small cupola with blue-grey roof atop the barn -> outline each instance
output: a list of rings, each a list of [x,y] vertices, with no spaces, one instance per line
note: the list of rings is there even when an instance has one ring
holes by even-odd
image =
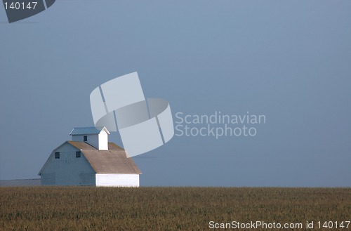
[[[109,150],[108,135],[110,131],[104,127],[73,128],[71,133],[72,141],[86,142],[98,150]]]

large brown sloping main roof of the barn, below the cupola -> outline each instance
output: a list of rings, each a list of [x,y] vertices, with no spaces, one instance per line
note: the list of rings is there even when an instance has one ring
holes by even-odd
[[[109,142],[109,150],[97,150],[85,142],[67,141],[84,154],[96,173],[141,174],[133,159],[126,157],[126,151]]]

